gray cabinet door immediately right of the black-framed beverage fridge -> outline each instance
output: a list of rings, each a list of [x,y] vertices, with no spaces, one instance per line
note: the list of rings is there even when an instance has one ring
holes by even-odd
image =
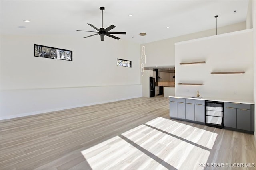
[[[236,128],[236,109],[224,107],[224,126]]]

